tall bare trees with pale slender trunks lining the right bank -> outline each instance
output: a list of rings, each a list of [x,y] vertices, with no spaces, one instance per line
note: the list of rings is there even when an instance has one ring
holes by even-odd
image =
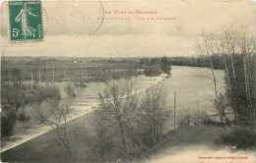
[[[255,35],[245,28],[232,27],[224,28],[219,32],[202,32],[198,49],[202,56],[214,55],[222,58],[220,63],[225,72],[225,93],[217,90],[213,60],[211,57],[208,60],[221,120],[226,120],[224,113],[227,108],[232,109],[236,122],[254,119],[256,115],[255,77],[253,78],[256,64]]]

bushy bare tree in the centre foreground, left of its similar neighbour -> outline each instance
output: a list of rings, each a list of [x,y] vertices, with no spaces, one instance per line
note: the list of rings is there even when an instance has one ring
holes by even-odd
[[[110,81],[107,88],[98,94],[99,106],[102,109],[105,123],[116,131],[120,138],[124,154],[129,153],[130,114],[136,108],[136,97],[129,82]]]

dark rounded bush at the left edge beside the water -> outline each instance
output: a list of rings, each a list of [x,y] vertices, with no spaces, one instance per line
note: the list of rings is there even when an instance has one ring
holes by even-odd
[[[1,136],[11,136],[16,124],[16,111],[11,107],[3,107],[1,114]]]

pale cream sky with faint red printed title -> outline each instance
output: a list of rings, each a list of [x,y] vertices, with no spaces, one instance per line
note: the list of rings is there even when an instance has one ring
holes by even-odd
[[[153,57],[197,55],[202,31],[256,31],[256,0],[43,1],[44,39],[10,42],[2,4],[1,51],[10,56]],[[103,12],[104,11],[104,12]]]

